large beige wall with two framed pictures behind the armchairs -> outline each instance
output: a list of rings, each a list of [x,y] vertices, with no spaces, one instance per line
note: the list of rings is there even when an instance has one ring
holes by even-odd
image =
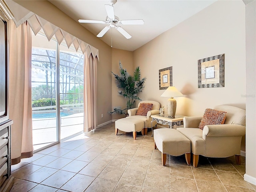
[[[225,54],[225,87],[198,88],[198,60]],[[176,98],[177,114],[202,115],[206,108],[228,104],[245,109],[245,5],[242,1],[217,1],[198,14],[134,51],[134,66],[147,77],[142,100],[161,107],[158,72],[172,66],[173,86],[186,94]],[[245,150],[244,142],[242,150]]]

